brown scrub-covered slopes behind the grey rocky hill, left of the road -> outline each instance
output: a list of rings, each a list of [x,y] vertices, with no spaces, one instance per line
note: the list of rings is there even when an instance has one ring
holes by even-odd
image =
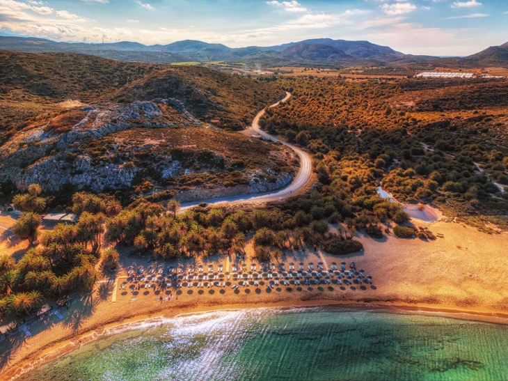
[[[61,102],[175,98],[200,120],[240,130],[284,95],[277,86],[207,68],[111,61],[82,54],[0,51],[0,142]]]

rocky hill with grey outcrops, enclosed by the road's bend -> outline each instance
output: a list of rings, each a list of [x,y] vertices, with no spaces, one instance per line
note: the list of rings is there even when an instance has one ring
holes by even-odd
[[[264,192],[287,184],[289,150],[208,128],[179,100],[93,104],[42,114],[0,148],[0,177],[18,189],[87,189],[168,198],[196,188]],[[228,189],[227,192],[225,189]]]

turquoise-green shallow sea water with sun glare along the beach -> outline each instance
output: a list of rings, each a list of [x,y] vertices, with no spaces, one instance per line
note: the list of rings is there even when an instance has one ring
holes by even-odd
[[[217,311],[119,329],[22,380],[508,380],[507,343],[508,326],[450,318]]]

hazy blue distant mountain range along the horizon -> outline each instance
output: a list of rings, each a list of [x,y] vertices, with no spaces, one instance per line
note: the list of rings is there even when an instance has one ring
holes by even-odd
[[[226,61],[263,65],[321,65],[327,67],[408,66],[429,67],[457,65],[461,67],[508,67],[508,43],[489,47],[472,56],[439,59],[397,52],[368,41],[315,38],[271,47],[231,48],[196,40],[183,40],[168,45],[143,45],[138,42],[88,44],[55,42],[44,38],[0,36],[0,49],[17,52],[70,52],[92,54],[119,61],[179,63],[188,61]]]

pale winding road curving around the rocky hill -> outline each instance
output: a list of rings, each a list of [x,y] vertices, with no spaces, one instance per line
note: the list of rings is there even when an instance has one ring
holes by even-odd
[[[274,103],[271,104],[270,107],[276,107],[278,104],[282,102],[286,102],[291,97],[291,93],[288,93],[286,91],[286,96]],[[285,146],[291,148],[294,150],[296,155],[300,158],[300,169],[296,177],[293,179],[291,184],[287,185],[287,187],[283,189],[278,189],[273,192],[267,192],[267,193],[254,193],[254,194],[239,194],[237,196],[227,196],[227,197],[219,197],[216,199],[207,199],[207,200],[199,200],[199,201],[191,201],[189,203],[182,203],[180,210],[184,211],[189,208],[192,208],[193,206],[196,206],[200,203],[207,203],[209,205],[216,205],[221,203],[235,203],[235,204],[255,204],[255,203],[267,203],[269,201],[278,201],[281,199],[285,199],[288,196],[292,195],[293,192],[299,191],[302,187],[305,186],[305,184],[310,180],[310,173],[312,173],[312,161],[310,160],[310,156],[308,153],[305,153],[305,151],[301,150],[300,148],[293,146],[292,144],[286,143],[285,141],[280,141],[276,137],[273,137],[270,134],[267,134],[267,132],[264,132],[260,129],[260,118],[264,115],[265,110],[258,112],[255,116],[251,128],[249,130],[252,130],[253,132],[260,134],[263,139],[271,140],[271,141],[279,141],[280,143],[283,143]]]

